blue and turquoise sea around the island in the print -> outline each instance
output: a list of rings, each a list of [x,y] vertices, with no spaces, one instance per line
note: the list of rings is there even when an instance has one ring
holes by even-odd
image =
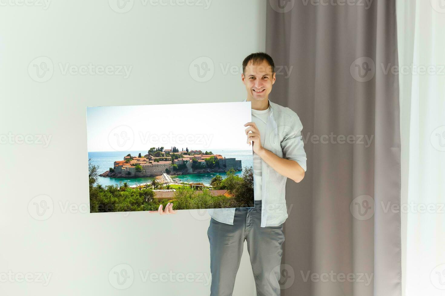
[[[221,154],[226,158],[236,158],[237,160],[241,160],[241,164],[243,169],[247,166],[253,167],[253,155],[252,150],[218,150],[212,149],[213,154]],[[104,173],[109,170],[110,167],[113,167],[113,163],[116,160],[123,160],[124,156],[127,154],[131,154],[132,156],[138,156],[139,153],[142,155],[147,154],[147,151],[105,151],[105,152],[88,152],[88,158],[91,158],[91,163],[95,166],[99,167],[99,174]],[[241,176],[242,171],[236,173]],[[190,175],[181,175],[178,178],[184,182],[202,182],[206,185],[210,183],[210,180],[215,175],[221,175],[223,178],[226,177],[226,173],[211,173],[211,174],[190,174]],[[97,182],[101,185],[115,185],[119,184],[119,182],[128,182],[131,185],[138,185],[142,183],[148,183],[153,178],[105,178],[99,177]]]

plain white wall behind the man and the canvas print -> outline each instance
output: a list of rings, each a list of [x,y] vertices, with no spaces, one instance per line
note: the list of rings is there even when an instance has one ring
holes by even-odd
[[[85,107],[243,100],[239,68],[246,55],[264,50],[265,2],[213,0],[206,9],[204,0],[188,1],[203,6],[130,0],[133,7],[119,13],[113,0],[47,7],[20,1],[0,2],[0,294],[209,295],[208,216],[88,213]],[[197,58],[214,63],[206,82],[189,71]],[[42,61],[53,73],[39,78],[35,65]],[[132,68],[127,78],[64,72],[89,63]],[[238,73],[224,73],[231,66]],[[18,143],[20,135],[31,143]],[[51,137],[47,147],[39,135]],[[38,221],[33,198],[42,194],[53,209]],[[109,281],[118,264],[134,271],[126,290]],[[204,276],[144,282],[140,272],[148,271]],[[18,282],[27,273],[31,282]],[[39,273],[51,274],[49,284]],[[234,295],[256,295],[247,249]]]

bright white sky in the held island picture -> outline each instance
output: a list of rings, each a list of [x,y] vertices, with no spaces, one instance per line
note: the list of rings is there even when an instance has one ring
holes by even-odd
[[[87,107],[88,151],[251,150],[251,102]]]

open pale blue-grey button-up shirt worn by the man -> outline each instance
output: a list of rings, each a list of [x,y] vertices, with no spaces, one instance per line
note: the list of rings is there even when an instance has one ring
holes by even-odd
[[[244,99],[243,102],[246,102]],[[306,171],[306,152],[298,115],[287,107],[269,100],[271,112],[267,118],[263,147],[281,158],[294,160]],[[278,226],[287,219],[286,180],[266,162],[261,160],[261,227]],[[255,186],[255,184],[254,184]],[[235,208],[208,209],[216,221],[233,225]]]

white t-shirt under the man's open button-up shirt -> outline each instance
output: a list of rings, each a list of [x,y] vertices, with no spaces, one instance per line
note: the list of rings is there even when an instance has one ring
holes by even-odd
[[[261,146],[264,145],[264,136],[266,134],[267,117],[269,117],[271,107],[266,110],[252,109],[252,122],[255,122],[259,130],[261,138]],[[254,198],[255,201],[261,200],[261,163],[263,160],[254,152],[253,153],[253,180],[254,180]]]

